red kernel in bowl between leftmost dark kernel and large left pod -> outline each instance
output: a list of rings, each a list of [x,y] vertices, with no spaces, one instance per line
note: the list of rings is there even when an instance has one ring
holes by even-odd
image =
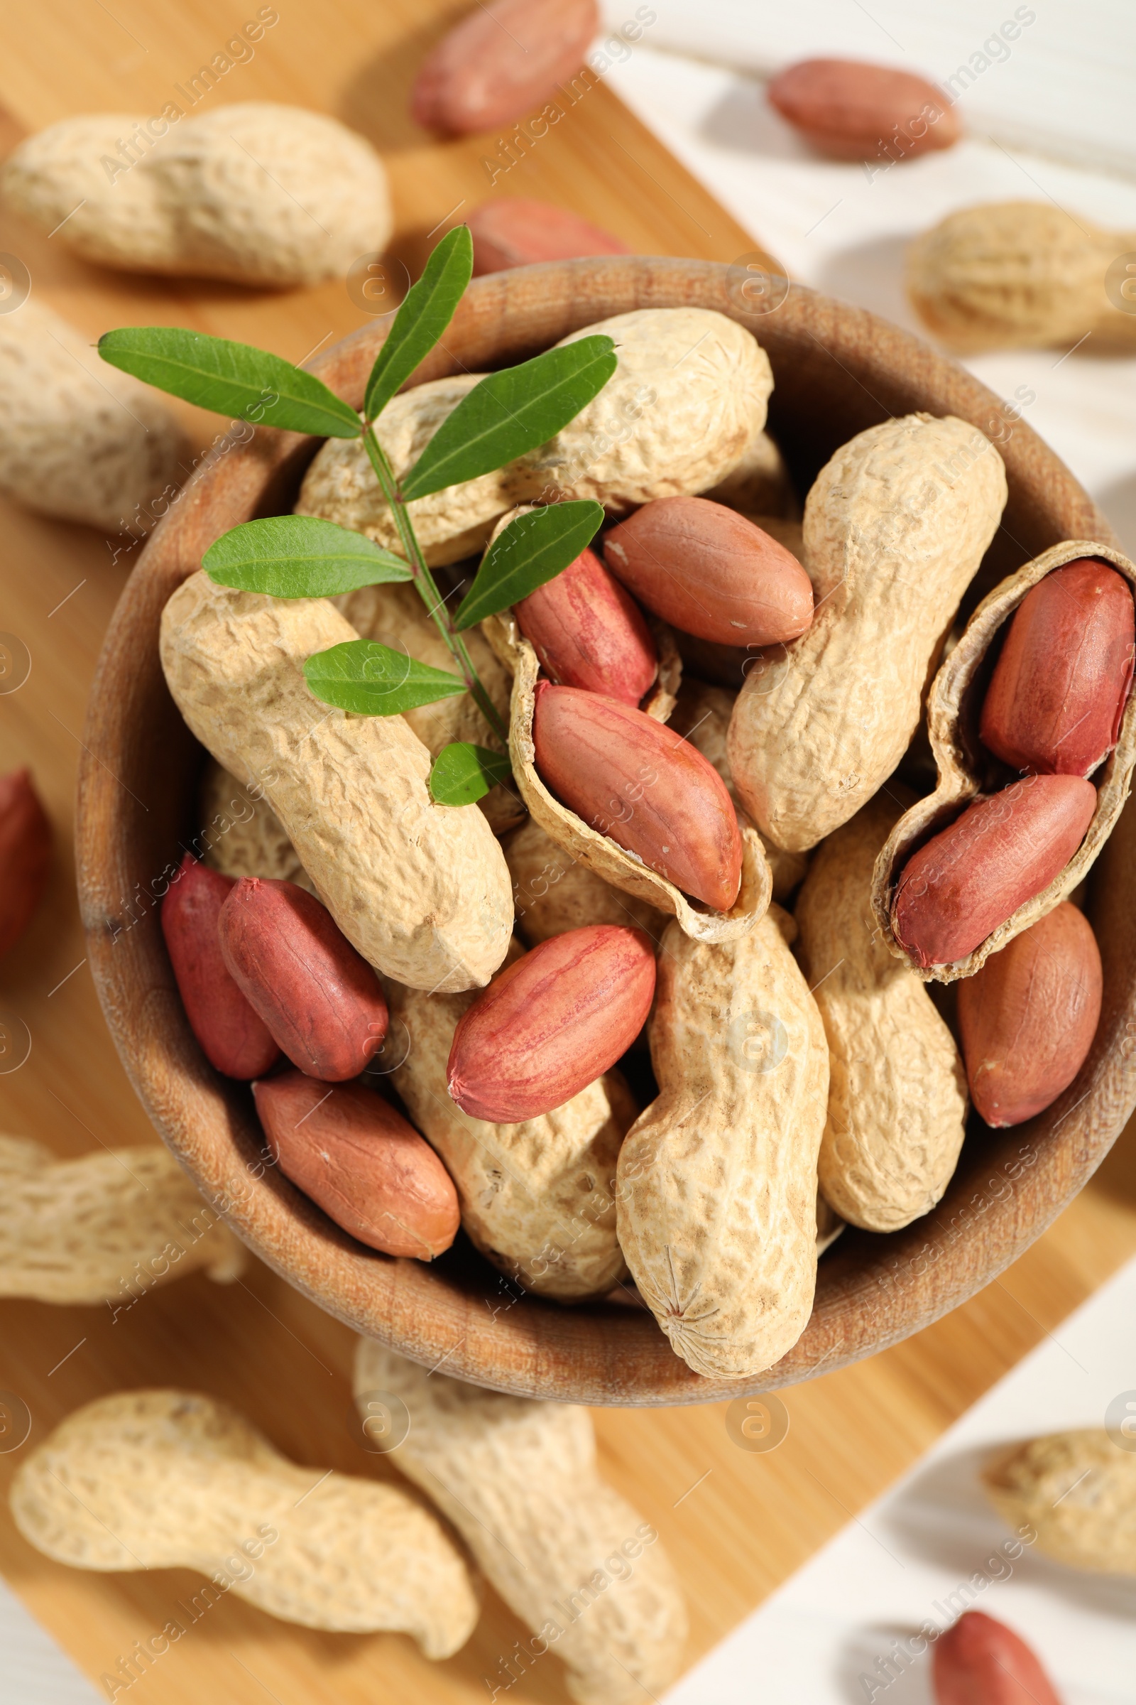
[[[220,916],[221,955],[293,1066],[308,1078],[358,1078],[383,1045],[378,977],[295,881],[245,876]]]

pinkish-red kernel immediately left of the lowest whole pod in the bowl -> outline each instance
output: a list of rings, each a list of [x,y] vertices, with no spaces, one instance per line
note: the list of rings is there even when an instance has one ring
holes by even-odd
[[[550,1113],[615,1066],[652,997],[654,948],[642,929],[591,924],[552,936],[462,1016],[450,1095],[501,1125]]]

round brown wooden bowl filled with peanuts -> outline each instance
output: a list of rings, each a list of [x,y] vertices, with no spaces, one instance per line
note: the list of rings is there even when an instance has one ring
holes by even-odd
[[[1051,450],[976,379],[858,309],[794,286],[765,315],[744,276],[700,261],[611,257],[479,278],[416,375],[484,372],[565,332],[642,307],[717,309],[749,326],[773,363],[770,425],[797,484],[853,433],[892,414],[959,414],[991,436],[1010,501],[979,580],[1061,539],[1114,542]],[[359,404],[382,339],[366,326],[313,363]],[[1136,899],[1133,812],[1099,861],[1088,910],[1104,955],[1093,1050],[1047,1113],[1013,1130],[972,1130],[940,1205],[906,1231],[846,1231],[821,1262],[816,1309],[795,1349],[751,1381],[703,1379],[645,1311],[562,1308],[513,1287],[468,1246],[431,1267],[363,1248],[257,1156],[244,1084],[220,1078],[186,1023],[157,905],[194,830],[201,750],[158,665],[158,619],[218,534],[291,508],[317,440],[259,430],[218,448],[146,544],[107,631],[87,716],[78,786],[78,892],[102,1008],[158,1132],[230,1226],[291,1284],[358,1332],[501,1391],[582,1403],[698,1403],[828,1373],[918,1332],[988,1284],[1081,1188],[1136,1105]]]

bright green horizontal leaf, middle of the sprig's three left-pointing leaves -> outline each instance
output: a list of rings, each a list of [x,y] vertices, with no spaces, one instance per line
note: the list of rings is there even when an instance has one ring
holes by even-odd
[[[273,598],[332,598],[356,587],[410,580],[393,551],[317,515],[271,515],[242,522],[211,544],[201,566],[218,587]]]

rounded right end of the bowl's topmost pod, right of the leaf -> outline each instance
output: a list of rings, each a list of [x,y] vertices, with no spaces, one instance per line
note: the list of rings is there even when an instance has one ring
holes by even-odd
[[[765,426],[773,389],[756,339],[710,309],[635,309],[562,338],[615,339],[618,368],[564,431],[521,457],[518,500],[594,498],[622,515],[717,486]]]

